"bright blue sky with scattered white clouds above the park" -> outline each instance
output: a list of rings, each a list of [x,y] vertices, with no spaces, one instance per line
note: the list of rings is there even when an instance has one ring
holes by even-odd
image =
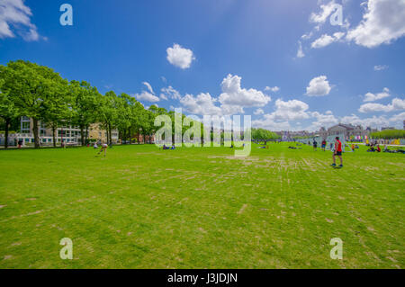
[[[23,58],[145,106],[251,114],[270,130],[402,128],[404,36],[403,0],[0,0],[2,65]]]

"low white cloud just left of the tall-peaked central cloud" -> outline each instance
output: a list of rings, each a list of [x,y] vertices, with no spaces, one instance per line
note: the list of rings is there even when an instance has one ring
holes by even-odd
[[[180,103],[184,106],[187,112],[194,114],[207,114],[207,115],[220,115],[222,114],[220,107],[215,106],[215,100],[211,97],[211,94],[185,94]]]

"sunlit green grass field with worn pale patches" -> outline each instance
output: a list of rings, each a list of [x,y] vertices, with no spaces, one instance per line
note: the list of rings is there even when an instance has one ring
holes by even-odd
[[[0,267],[403,268],[404,155],[287,147],[2,150]]]

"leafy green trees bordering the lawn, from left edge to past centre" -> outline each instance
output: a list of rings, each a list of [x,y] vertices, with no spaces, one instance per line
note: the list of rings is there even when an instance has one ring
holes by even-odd
[[[10,61],[0,65],[0,118],[4,121],[4,148],[7,148],[10,124],[22,116],[33,122],[35,148],[40,148],[39,124],[52,130],[56,147],[56,133],[61,125],[75,125],[80,128],[81,143],[85,145],[90,125],[100,123],[107,131],[108,143],[112,142],[112,130],[118,130],[120,139],[130,142],[132,135],[153,135],[160,127],[155,126],[157,115],[166,114],[173,125],[172,139],[175,140],[175,112],[151,105],[148,109],[128,94],[110,91],[100,94],[96,87],[85,81],[67,81],[49,67],[29,61]],[[190,126],[193,127],[193,121]],[[190,126],[180,128],[182,134]],[[178,129],[179,127],[177,127]],[[278,136],[263,129],[252,130],[252,139],[277,139]],[[201,124],[201,136],[203,125]],[[221,138],[224,138],[223,132]],[[212,132],[211,132],[212,139]]]

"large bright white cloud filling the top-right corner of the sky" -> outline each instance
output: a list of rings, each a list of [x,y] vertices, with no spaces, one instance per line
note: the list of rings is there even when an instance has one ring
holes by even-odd
[[[369,0],[363,20],[348,31],[347,40],[374,48],[405,35],[405,1]]]

